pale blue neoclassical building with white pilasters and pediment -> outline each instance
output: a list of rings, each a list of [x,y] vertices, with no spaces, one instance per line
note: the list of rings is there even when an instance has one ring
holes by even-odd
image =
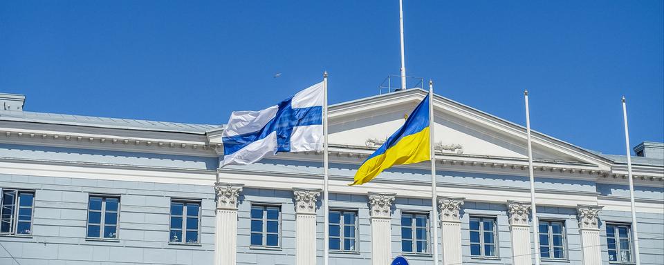
[[[533,133],[533,248],[525,128],[445,97],[434,97],[438,216],[427,163],[347,186],[425,95],[330,107],[329,198],[320,152],[220,168],[223,125],[29,112],[25,97],[0,95],[0,264],[322,264],[323,199],[330,264],[432,264],[434,247],[441,264],[634,262],[627,157]],[[663,264],[664,147],[635,153],[641,264]]]

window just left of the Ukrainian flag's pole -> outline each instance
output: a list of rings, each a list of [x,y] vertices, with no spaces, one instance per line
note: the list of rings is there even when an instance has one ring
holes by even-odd
[[[407,253],[429,253],[429,215],[417,213],[401,214],[401,251]]]

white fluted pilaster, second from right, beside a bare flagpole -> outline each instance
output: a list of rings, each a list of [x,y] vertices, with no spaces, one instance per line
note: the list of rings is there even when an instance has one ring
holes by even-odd
[[[531,265],[533,264],[531,227],[528,226],[531,203],[508,201],[508,212],[510,214],[510,230],[512,231],[513,264]]]

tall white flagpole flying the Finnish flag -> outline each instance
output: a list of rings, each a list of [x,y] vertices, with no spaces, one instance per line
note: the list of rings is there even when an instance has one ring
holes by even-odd
[[[330,251],[330,246],[329,246],[329,240],[330,240],[330,227],[329,227],[329,194],[328,194],[328,153],[327,153],[327,71],[323,73],[323,210],[325,213],[323,214],[323,225],[324,225],[324,233],[323,233],[323,264],[328,265],[329,264],[329,251]]]

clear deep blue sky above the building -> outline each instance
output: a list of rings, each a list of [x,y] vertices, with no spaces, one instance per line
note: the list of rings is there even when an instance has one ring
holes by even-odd
[[[664,141],[664,1],[405,0],[408,75],[603,153]],[[320,81],[398,74],[398,1],[0,1],[0,91],[26,110],[223,124]],[[273,78],[282,72],[279,78]]]

